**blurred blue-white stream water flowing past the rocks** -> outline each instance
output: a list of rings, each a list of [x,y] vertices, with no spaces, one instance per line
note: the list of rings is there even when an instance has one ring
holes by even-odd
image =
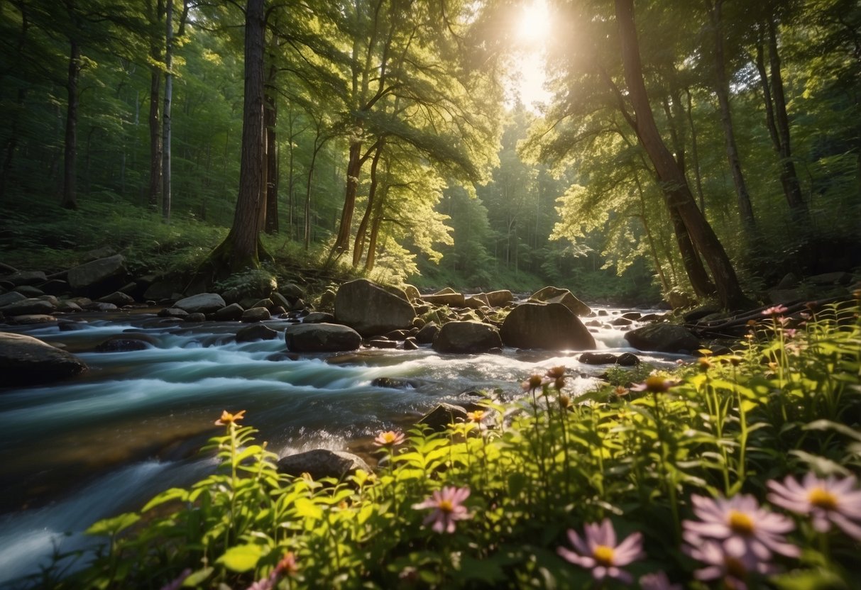
[[[619,313],[606,311],[608,321]],[[282,335],[237,343],[236,324],[165,324],[143,312],[86,318],[74,331],[0,328],[63,346],[90,366],[59,383],[0,387],[0,585],[49,562],[55,548],[82,547],[81,532],[97,519],[211,470],[212,459],[196,450],[221,432],[213,422],[223,409],[247,410],[245,423],[279,456],[319,447],[361,452],[381,430],[406,427],[439,402],[474,399],[470,391],[511,399],[523,378],[564,365],[580,375],[571,383],[576,393],[606,369],[580,364],[579,352],[511,348],[470,355],[363,349],[290,360]],[[283,331],[286,323],[268,325]],[[94,352],[127,331],[158,343]],[[609,324],[592,331],[603,352],[636,352]],[[655,366],[675,360],[636,353]],[[376,387],[375,378],[409,384]]]

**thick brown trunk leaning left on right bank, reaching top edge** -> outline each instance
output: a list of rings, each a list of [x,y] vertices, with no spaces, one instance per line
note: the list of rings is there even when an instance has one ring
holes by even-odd
[[[697,208],[687,179],[678,168],[678,163],[673,159],[670,151],[667,150],[655,124],[642,76],[640,47],[634,22],[634,0],[615,0],[615,3],[625,81],[636,114],[637,137],[640,138],[643,149],[652,161],[658,179],[664,187],[667,206],[678,211],[691,240],[709,266],[722,306],[734,309],[745,305],[749,302],[741,292],[733,265],[717,239],[715,231]]]

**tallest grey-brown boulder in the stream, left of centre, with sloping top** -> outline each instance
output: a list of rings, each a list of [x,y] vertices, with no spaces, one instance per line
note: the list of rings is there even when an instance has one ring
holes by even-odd
[[[406,299],[366,279],[350,280],[335,295],[335,319],[362,336],[409,329],[416,310]]]

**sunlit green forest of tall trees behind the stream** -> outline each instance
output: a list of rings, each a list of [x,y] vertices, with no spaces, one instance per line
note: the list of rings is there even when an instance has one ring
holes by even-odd
[[[3,0],[3,249],[109,212],[224,228],[221,277],[264,233],[380,280],[739,304],[858,267],[859,30],[855,0]]]

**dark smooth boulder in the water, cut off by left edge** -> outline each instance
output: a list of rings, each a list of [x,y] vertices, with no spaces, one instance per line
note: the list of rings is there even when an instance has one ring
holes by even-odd
[[[0,383],[40,384],[87,370],[83,360],[33,336],[0,332]]]

